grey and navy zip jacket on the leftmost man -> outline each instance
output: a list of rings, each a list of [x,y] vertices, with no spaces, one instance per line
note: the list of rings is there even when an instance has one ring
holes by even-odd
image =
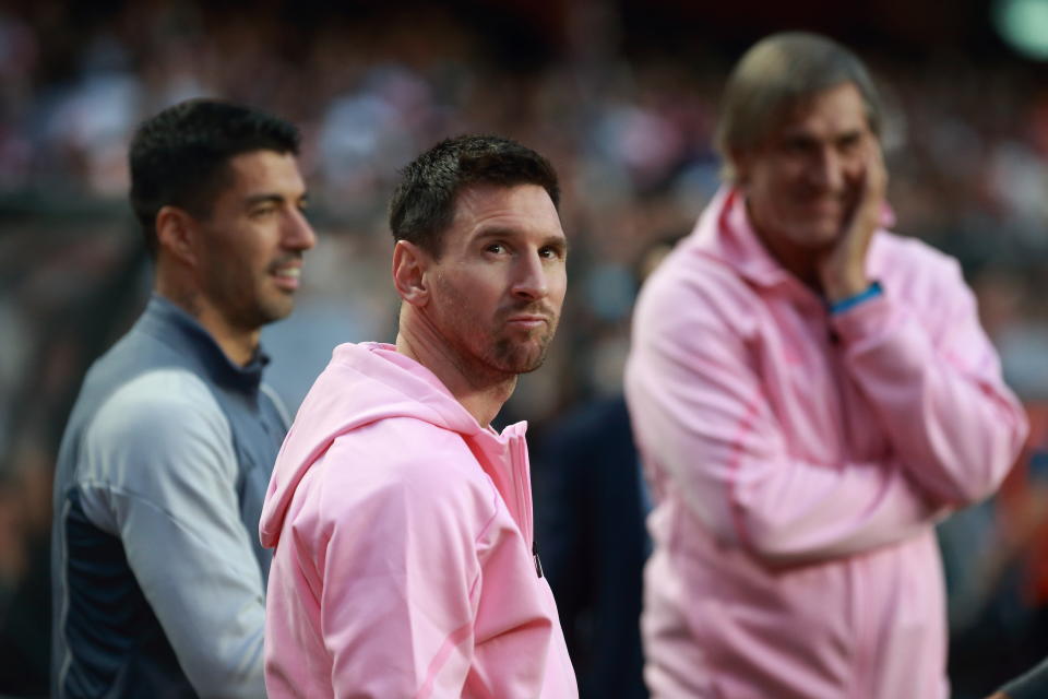
[[[56,474],[52,696],[264,696],[265,362],[154,296],[92,367]]]

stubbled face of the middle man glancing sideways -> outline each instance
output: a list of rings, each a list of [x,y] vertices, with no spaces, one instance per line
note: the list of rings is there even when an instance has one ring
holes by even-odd
[[[458,193],[427,312],[467,370],[537,369],[557,331],[568,241],[545,189],[475,186]]]

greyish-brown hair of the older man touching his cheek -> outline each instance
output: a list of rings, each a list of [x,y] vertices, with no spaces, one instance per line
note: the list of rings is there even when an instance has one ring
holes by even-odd
[[[733,153],[760,145],[790,109],[845,83],[859,91],[870,130],[880,135],[880,96],[850,50],[808,32],[772,34],[754,44],[731,71],[720,100],[714,141],[725,178],[735,179]]]

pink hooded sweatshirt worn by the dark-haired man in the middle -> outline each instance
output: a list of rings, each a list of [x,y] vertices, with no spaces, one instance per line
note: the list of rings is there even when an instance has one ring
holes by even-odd
[[[392,345],[335,348],[262,511],[271,699],[577,696],[524,429],[480,427]]]

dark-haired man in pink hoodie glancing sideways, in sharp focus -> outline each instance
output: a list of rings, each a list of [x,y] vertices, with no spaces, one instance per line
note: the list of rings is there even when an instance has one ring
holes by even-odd
[[[489,426],[541,365],[564,298],[549,163],[439,143],[393,196],[395,345],[340,345],[262,512],[271,698],[573,698],[532,525],[524,423]]]

